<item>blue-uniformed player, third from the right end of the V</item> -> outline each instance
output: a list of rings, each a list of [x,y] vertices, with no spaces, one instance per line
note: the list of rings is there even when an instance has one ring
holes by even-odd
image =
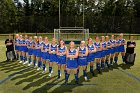
[[[114,40],[114,35],[111,35],[111,39],[110,39],[110,43],[112,45],[111,48],[111,55],[110,55],[110,65],[113,65],[113,58],[114,58],[114,54],[115,54],[115,40]]]

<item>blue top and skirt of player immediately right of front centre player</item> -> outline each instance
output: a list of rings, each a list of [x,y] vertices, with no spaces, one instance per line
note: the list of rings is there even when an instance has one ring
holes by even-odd
[[[86,47],[85,48],[81,48],[81,47],[79,47],[79,53],[80,54],[86,54]],[[78,57],[78,64],[80,65],[80,66],[87,66],[87,56],[79,56]]]

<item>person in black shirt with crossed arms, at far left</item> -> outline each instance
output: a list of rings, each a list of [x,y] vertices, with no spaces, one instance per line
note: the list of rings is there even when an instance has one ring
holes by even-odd
[[[7,61],[13,61],[15,58],[14,55],[14,41],[12,39],[12,37],[9,35],[8,39],[5,40],[5,45],[6,45],[6,57],[7,57]]]

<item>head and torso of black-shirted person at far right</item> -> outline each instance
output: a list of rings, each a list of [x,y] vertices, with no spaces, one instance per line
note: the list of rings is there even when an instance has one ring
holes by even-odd
[[[136,42],[134,41],[133,36],[131,36],[130,40],[127,41],[126,53],[133,54],[135,47],[136,47]]]

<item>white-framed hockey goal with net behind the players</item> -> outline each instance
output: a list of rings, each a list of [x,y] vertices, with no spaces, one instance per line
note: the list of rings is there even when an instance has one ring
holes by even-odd
[[[65,44],[74,41],[75,44],[80,44],[82,40],[86,41],[89,38],[89,29],[81,28],[60,28],[54,29],[54,38],[58,41],[63,39]]]

